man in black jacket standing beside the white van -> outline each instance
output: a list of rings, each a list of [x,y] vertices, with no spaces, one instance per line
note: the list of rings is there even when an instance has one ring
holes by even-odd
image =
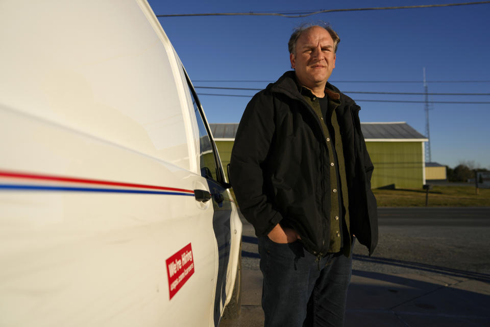
[[[342,326],[355,238],[378,241],[373,165],[360,107],[327,82],[340,41],[329,26],[291,35],[286,72],[248,104],[231,181],[254,225],[266,326]]]

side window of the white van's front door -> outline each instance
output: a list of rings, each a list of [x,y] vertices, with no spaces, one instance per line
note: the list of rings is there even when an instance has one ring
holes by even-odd
[[[201,161],[201,175],[206,178],[217,179],[217,172],[219,171],[216,165],[213,145],[211,138],[209,137],[206,125],[204,124],[201,111],[199,110],[199,104],[195,99],[195,94],[192,87],[189,87],[190,97],[192,99],[192,105],[194,106],[195,119],[198,122],[199,127],[199,147],[200,147],[200,161]]]

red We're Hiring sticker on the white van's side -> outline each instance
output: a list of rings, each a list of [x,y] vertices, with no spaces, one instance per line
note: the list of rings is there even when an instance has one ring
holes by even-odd
[[[190,243],[170,256],[166,264],[168,291],[171,299],[194,273],[194,257]]]

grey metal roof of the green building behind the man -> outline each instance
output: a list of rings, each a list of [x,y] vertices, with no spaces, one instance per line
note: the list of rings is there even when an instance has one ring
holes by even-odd
[[[233,141],[238,124],[209,124],[214,139]],[[400,141],[425,142],[427,137],[416,131],[405,122],[393,123],[361,123],[365,141]]]

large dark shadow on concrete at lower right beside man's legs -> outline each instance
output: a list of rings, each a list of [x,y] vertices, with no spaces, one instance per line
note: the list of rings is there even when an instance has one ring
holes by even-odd
[[[488,326],[490,321],[489,288],[481,282],[359,270],[352,274],[347,326]]]

